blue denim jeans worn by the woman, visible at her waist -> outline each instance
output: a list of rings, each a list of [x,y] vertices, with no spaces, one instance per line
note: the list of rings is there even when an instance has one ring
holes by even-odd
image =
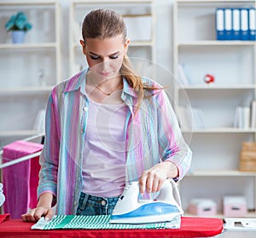
[[[77,215],[111,215],[119,196],[113,198],[97,197],[81,192]]]

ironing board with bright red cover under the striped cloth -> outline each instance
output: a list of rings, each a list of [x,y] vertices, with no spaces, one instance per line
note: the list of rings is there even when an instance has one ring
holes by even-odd
[[[180,229],[31,229],[34,223],[21,219],[10,219],[0,223],[0,237],[34,238],[34,237],[211,237],[223,230],[223,220],[219,218],[183,217]]]

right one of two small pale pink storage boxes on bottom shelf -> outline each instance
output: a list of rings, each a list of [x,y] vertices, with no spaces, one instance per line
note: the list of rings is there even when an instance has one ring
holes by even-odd
[[[224,197],[224,216],[243,217],[247,214],[247,200],[243,196]]]

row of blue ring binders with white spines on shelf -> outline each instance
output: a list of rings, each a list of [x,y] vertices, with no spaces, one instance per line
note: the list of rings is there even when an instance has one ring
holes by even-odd
[[[255,8],[216,9],[218,40],[256,40]]]

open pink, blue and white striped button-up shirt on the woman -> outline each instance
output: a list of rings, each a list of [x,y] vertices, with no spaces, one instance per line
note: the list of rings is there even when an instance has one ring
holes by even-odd
[[[87,69],[56,85],[47,102],[38,197],[54,194],[57,214],[76,213],[83,186],[84,137],[90,113],[84,93],[86,73]],[[148,78],[143,78],[143,83],[155,84]],[[192,153],[165,90],[153,91],[136,110],[137,94],[123,78],[121,98],[129,108],[125,119],[125,183],[137,181],[143,171],[163,160],[177,165],[182,179]]]

